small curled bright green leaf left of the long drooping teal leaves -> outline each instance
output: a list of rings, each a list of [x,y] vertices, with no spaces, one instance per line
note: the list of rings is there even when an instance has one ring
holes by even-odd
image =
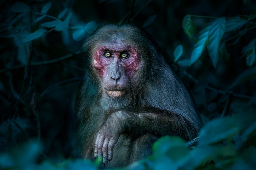
[[[190,17],[191,17],[191,15],[186,15],[186,16],[183,18],[183,21],[182,21],[182,28],[183,28],[184,32],[189,36],[189,38],[195,41],[195,39],[193,38],[192,35],[194,35],[195,32],[196,32],[196,25],[195,25],[195,23],[191,20]]]

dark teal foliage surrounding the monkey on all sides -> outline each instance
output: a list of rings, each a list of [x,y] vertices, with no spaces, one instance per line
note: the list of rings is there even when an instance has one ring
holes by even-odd
[[[162,137],[152,156],[124,169],[256,167],[256,2],[0,4],[1,169],[97,169],[97,160],[73,158],[74,98],[81,45],[104,23],[134,23],[153,35],[204,122],[194,142]]]

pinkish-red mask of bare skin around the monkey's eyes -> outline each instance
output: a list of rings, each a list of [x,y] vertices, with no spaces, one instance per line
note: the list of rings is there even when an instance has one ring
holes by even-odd
[[[105,56],[105,52],[107,51],[112,54],[112,57],[107,58]],[[122,59],[120,57],[120,55],[124,52],[129,55],[129,57],[126,59]],[[105,74],[107,74],[107,66],[115,60],[120,65],[122,65],[122,68],[126,72],[128,78],[132,77],[133,74],[137,70],[139,70],[139,55],[133,47],[111,48],[106,46],[100,46],[95,50],[92,65],[94,68],[98,70],[99,76],[103,78]]]

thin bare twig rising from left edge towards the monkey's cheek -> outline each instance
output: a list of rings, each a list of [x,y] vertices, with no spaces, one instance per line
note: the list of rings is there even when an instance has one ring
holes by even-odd
[[[27,64],[27,66],[39,66],[39,65],[48,65],[48,64],[53,64],[53,63],[57,63],[57,62],[60,62],[60,61],[63,61],[65,59],[69,59],[69,58],[72,58],[73,56],[79,54],[80,51],[77,51],[73,54],[68,54],[66,56],[63,56],[63,57],[60,57],[58,59],[53,59],[53,60],[48,60],[48,61],[42,61],[42,62],[32,62],[32,63],[29,63]],[[6,71],[11,71],[11,70],[16,70],[16,69],[19,69],[19,68],[24,68],[26,67],[26,64],[23,64],[23,65],[17,65],[17,66],[14,66],[14,67],[11,67],[11,68],[5,68],[5,69],[2,69],[0,70],[0,73],[3,73],[3,72],[6,72]]]

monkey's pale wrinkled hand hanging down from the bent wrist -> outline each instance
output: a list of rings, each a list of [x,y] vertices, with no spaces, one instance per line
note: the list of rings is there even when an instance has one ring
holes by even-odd
[[[102,157],[103,165],[107,165],[113,158],[114,145],[125,129],[124,120],[125,117],[122,111],[114,112],[98,132],[95,141],[94,159]]]

